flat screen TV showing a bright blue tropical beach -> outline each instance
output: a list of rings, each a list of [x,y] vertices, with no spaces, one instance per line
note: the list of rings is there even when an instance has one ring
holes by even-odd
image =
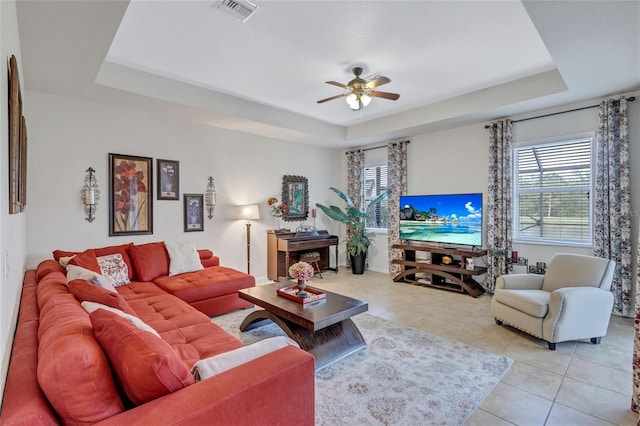
[[[400,196],[400,238],[482,246],[482,193]]]

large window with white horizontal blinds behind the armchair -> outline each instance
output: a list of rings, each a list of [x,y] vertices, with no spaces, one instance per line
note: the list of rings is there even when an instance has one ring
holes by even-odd
[[[514,240],[591,245],[593,138],[513,148]]]

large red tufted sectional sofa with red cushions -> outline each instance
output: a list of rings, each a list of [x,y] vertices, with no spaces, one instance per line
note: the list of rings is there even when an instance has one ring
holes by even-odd
[[[162,243],[140,247],[95,250],[127,255],[132,281],[117,294],[67,283],[52,259],[25,273],[0,424],[314,424],[314,361],[296,347],[200,382],[188,374],[196,361],[243,346],[208,315],[245,306],[233,295],[253,277],[219,266],[210,251],[199,251],[201,271],[169,277]],[[87,313],[81,301],[94,296],[159,338],[105,309]]]

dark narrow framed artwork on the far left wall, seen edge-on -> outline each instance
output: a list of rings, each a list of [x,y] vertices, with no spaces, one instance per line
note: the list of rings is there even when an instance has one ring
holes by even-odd
[[[9,59],[9,214],[20,213],[24,210],[21,198],[23,194],[20,193],[22,182],[26,187],[26,179],[23,181],[20,174],[22,157],[24,157],[26,171],[26,155],[21,155],[22,147],[20,145],[22,124],[22,94],[20,93],[18,62],[16,57],[11,55]]]

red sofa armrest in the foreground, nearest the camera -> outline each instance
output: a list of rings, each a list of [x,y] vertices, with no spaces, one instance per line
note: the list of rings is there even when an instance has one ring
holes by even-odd
[[[293,346],[110,417],[101,425],[309,425],[313,356]]]

